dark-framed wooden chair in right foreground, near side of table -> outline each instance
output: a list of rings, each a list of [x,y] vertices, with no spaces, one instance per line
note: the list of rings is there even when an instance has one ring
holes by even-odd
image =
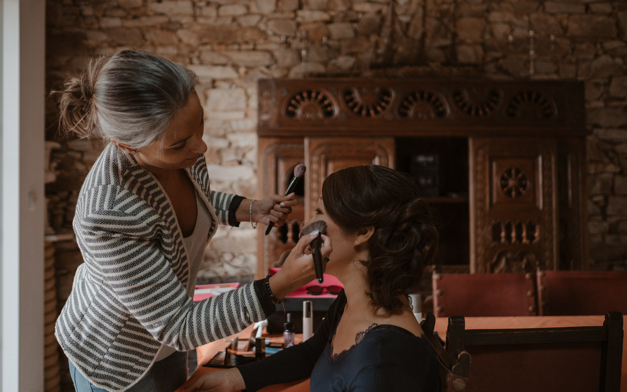
[[[603,326],[470,330],[449,317],[446,351],[472,356],[469,392],[618,392],[623,315],[606,313]]]

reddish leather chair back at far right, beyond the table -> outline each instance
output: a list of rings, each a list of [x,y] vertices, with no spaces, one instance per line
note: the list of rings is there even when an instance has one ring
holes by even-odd
[[[627,271],[537,271],[540,315],[627,314]]]

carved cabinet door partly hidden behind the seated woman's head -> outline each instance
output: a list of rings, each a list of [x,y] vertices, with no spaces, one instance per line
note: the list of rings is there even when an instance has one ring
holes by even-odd
[[[394,139],[306,137],[305,220],[311,216],[324,179],[345,167],[379,164],[394,167]]]

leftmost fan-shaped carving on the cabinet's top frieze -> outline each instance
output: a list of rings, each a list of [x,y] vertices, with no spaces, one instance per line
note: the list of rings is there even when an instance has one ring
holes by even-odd
[[[329,119],[337,113],[337,105],[331,97],[324,90],[302,90],[285,102],[283,115],[296,120]]]

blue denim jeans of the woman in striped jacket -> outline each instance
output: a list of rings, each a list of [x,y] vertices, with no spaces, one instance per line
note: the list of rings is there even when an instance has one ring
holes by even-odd
[[[70,361],[70,376],[76,392],[107,392],[90,383]],[[187,380],[187,352],[176,351],[152,364],[137,384],[125,392],[173,392]]]

